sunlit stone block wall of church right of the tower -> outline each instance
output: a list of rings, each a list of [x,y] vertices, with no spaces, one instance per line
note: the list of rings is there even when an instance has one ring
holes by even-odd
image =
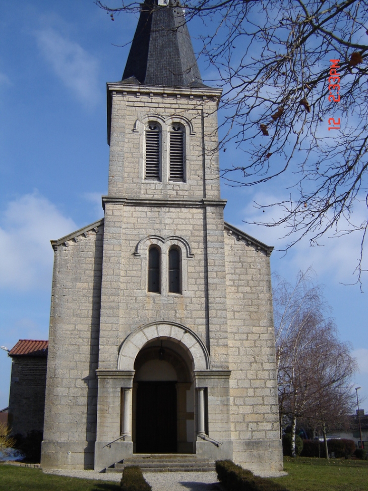
[[[270,260],[230,230],[225,244],[234,462],[282,470]]]

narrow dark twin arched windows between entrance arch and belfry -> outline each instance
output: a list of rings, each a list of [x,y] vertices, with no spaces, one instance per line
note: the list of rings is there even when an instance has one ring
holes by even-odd
[[[167,259],[168,292],[181,293],[181,250],[170,247]],[[148,250],[148,291],[161,293],[161,250],[155,245]]]

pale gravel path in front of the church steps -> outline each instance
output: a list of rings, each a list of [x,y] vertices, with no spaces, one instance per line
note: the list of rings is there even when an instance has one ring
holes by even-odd
[[[121,473],[101,474],[93,470],[48,470],[47,474],[58,474],[84,479],[119,482]],[[145,472],[144,477],[152,491],[220,491],[222,487],[216,472]]]

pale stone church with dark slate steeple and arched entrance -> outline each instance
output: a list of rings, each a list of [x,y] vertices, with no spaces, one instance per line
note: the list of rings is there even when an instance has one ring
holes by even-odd
[[[51,241],[45,469],[282,470],[272,247],[224,222],[220,96],[182,9],[146,0],[107,84],[104,218]]]

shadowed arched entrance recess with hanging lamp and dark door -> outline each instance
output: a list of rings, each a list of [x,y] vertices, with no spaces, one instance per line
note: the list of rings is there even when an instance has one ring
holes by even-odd
[[[192,360],[176,340],[158,337],[138,353],[133,378],[134,453],[193,453]]]

